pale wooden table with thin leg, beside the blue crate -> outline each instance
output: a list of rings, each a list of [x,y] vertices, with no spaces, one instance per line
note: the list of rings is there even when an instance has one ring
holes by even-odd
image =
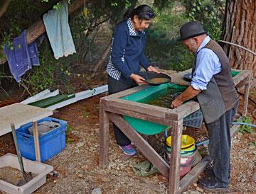
[[[33,105],[22,103],[6,105],[0,108],[0,136],[11,132],[11,123],[14,123],[14,126],[17,129],[28,122],[33,122],[36,161],[41,161],[37,121],[50,115],[53,115],[53,110],[46,110]]]

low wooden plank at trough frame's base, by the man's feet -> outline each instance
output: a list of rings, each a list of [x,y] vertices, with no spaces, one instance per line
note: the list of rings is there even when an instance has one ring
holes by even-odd
[[[210,156],[204,157],[200,162],[198,162],[198,164],[196,164],[196,166],[193,167],[191,171],[186,174],[186,176],[181,179],[180,190],[178,190],[178,193],[182,193],[183,190],[185,190],[188,186],[196,182],[198,175],[201,174],[204,169],[206,169],[206,165],[209,161]]]

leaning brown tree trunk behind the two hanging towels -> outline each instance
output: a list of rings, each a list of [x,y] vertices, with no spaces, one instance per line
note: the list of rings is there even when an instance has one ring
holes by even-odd
[[[68,14],[74,13],[80,6],[84,5],[84,0],[75,0],[69,7],[68,7]],[[28,45],[34,42],[37,38],[39,38],[43,33],[46,32],[46,26],[43,23],[43,19],[41,18],[39,21],[31,25],[28,28],[26,39]],[[3,50],[0,50],[1,53],[4,53]],[[0,64],[4,64],[6,62],[6,58],[0,58]]]

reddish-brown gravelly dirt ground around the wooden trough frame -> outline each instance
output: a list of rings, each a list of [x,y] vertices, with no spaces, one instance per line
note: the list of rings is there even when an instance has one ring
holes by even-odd
[[[255,91],[255,90],[254,90]],[[99,163],[99,99],[100,96],[85,99],[61,108],[55,118],[68,121],[72,130],[68,132],[66,148],[46,164],[54,166],[58,178],[48,176],[44,186],[36,193],[91,193],[100,187],[103,193],[167,193],[167,180],[160,174],[139,177],[132,166],[146,158],[141,152],[124,160],[124,156],[114,141],[111,127],[110,165],[100,169]],[[252,95],[253,97],[255,95]],[[254,97],[255,98],[255,97]],[[256,100],[256,98],[254,99]],[[241,100],[242,101],[242,100]],[[249,113],[255,109],[250,103]],[[197,130],[199,134],[203,131]],[[188,131],[191,132],[191,131]],[[196,134],[196,130],[194,131]],[[0,137],[0,156],[14,153],[11,135]],[[238,134],[232,141],[231,180],[228,192],[256,193],[256,182],[252,180],[255,171],[256,141],[254,134]],[[1,192],[0,192],[1,193]],[[186,193],[207,193],[194,183]]]

